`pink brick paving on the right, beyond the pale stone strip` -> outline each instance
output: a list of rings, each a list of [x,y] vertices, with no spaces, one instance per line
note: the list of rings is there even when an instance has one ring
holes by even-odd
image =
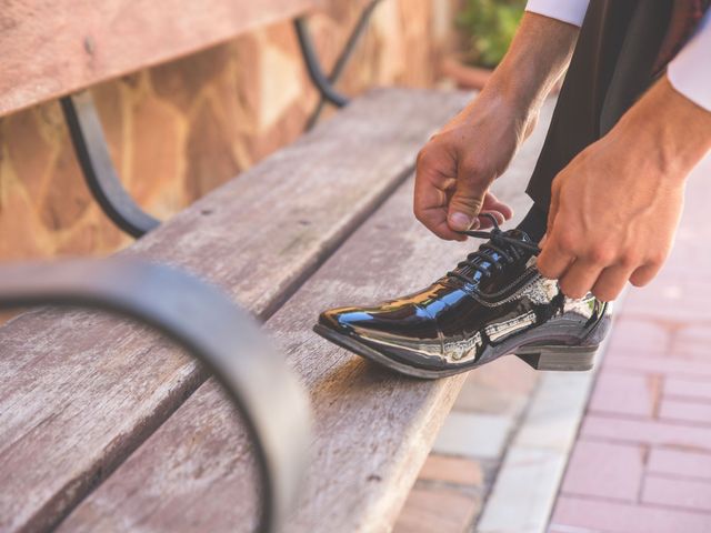
[[[710,173],[690,178],[663,271],[618,310],[550,533],[711,531]]]

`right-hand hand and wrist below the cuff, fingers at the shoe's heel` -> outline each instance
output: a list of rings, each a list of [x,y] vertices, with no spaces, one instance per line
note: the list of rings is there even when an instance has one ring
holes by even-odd
[[[711,113],[660,80],[553,180],[538,269],[570,298],[614,300],[667,259],[684,179],[711,149]]]

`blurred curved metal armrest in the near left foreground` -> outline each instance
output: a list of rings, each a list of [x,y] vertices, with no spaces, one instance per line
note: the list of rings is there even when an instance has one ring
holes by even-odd
[[[254,442],[264,501],[260,531],[292,509],[307,463],[307,396],[257,322],[217,289],[136,260],[0,265],[0,308],[83,305],[147,322],[219,380]]]

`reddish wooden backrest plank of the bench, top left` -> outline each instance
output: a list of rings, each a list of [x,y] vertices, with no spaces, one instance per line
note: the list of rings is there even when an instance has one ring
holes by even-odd
[[[0,115],[327,1],[6,0],[0,8]]]

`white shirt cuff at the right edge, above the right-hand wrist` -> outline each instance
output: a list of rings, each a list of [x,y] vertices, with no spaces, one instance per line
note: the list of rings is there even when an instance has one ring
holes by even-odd
[[[667,77],[672,87],[692,102],[711,111],[711,9],[703,16],[691,40],[669,62]]]

